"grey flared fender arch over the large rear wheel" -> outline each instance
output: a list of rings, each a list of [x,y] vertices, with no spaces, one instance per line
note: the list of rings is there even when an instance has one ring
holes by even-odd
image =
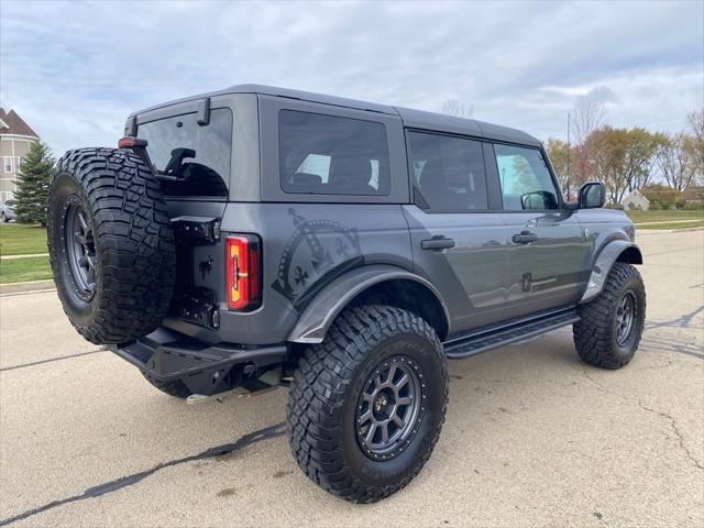
[[[440,293],[427,279],[402,267],[373,264],[345,273],[308,304],[287,341],[320,343],[342,310],[364,304],[386,304],[426,319],[442,340],[450,315]]]

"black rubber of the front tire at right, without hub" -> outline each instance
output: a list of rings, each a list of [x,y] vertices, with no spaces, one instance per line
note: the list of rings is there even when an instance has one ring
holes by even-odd
[[[616,314],[619,302],[629,294],[635,300],[634,326],[626,341],[619,343]],[[627,365],[638,349],[646,320],[646,288],[638,270],[615,263],[602,293],[579,310],[581,319],[573,326],[573,337],[582,361],[612,370]]]

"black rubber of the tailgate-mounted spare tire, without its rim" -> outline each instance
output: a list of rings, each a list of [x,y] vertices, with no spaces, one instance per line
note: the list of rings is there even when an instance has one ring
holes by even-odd
[[[88,320],[67,309],[61,266],[62,241],[48,215],[50,261],[58,296],[72,324],[88,341],[113,344],[154,331],[168,311],[176,276],[176,251],[160,183],[134,153],[119,148],[68,151],[56,164],[50,196],[68,174],[85,193],[94,218],[102,288]]]

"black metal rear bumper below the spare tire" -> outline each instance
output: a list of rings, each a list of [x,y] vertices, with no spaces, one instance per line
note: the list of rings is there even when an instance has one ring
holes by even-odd
[[[182,381],[193,393],[210,395],[239,385],[250,371],[284,362],[287,348],[213,345],[160,328],[136,341],[113,346],[112,352],[160,382]]]

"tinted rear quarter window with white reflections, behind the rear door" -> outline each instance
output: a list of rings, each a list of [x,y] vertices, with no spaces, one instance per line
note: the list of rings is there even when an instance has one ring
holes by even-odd
[[[285,193],[386,196],[391,191],[382,123],[282,110],[278,147]]]

